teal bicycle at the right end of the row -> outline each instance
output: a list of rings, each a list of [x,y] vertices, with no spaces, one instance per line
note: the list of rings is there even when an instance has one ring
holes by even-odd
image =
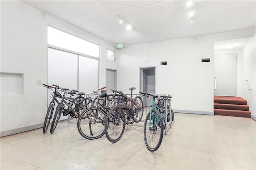
[[[158,98],[158,96],[154,96],[152,94],[144,92],[139,93],[146,97],[153,97],[152,106],[144,123],[144,141],[148,150],[154,152],[159,149],[162,143],[164,129],[166,129],[166,123],[164,124],[166,121],[163,120],[166,120],[166,115],[168,115],[166,112],[170,112],[168,107],[161,107],[161,105],[159,105],[159,99],[168,100],[168,98],[172,97],[160,96],[160,98]]]

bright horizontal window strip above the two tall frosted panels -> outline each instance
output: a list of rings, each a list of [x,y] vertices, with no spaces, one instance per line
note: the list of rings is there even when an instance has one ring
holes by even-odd
[[[99,57],[99,45],[48,26],[48,44]]]

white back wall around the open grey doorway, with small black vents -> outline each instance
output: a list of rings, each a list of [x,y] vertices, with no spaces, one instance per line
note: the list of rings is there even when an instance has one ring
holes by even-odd
[[[118,87],[139,87],[139,67],[156,66],[156,93],[170,93],[172,108],[187,113],[213,113],[214,41],[254,36],[254,28],[127,45],[118,51]],[[140,62],[149,51],[149,61]],[[201,63],[210,58],[209,63]],[[167,61],[167,65],[160,65]],[[137,88],[138,89],[138,88]],[[135,93],[138,92],[136,89]]]

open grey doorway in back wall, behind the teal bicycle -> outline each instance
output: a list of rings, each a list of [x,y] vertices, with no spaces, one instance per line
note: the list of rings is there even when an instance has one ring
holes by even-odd
[[[156,93],[156,67],[140,68],[140,92]],[[150,105],[151,100],[143,98],[144,106]]]

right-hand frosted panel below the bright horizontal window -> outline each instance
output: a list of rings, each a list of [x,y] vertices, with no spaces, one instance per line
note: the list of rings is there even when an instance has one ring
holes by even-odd
[[[79,56],[79,91],[92,93],[98,89],[99,61]]]

